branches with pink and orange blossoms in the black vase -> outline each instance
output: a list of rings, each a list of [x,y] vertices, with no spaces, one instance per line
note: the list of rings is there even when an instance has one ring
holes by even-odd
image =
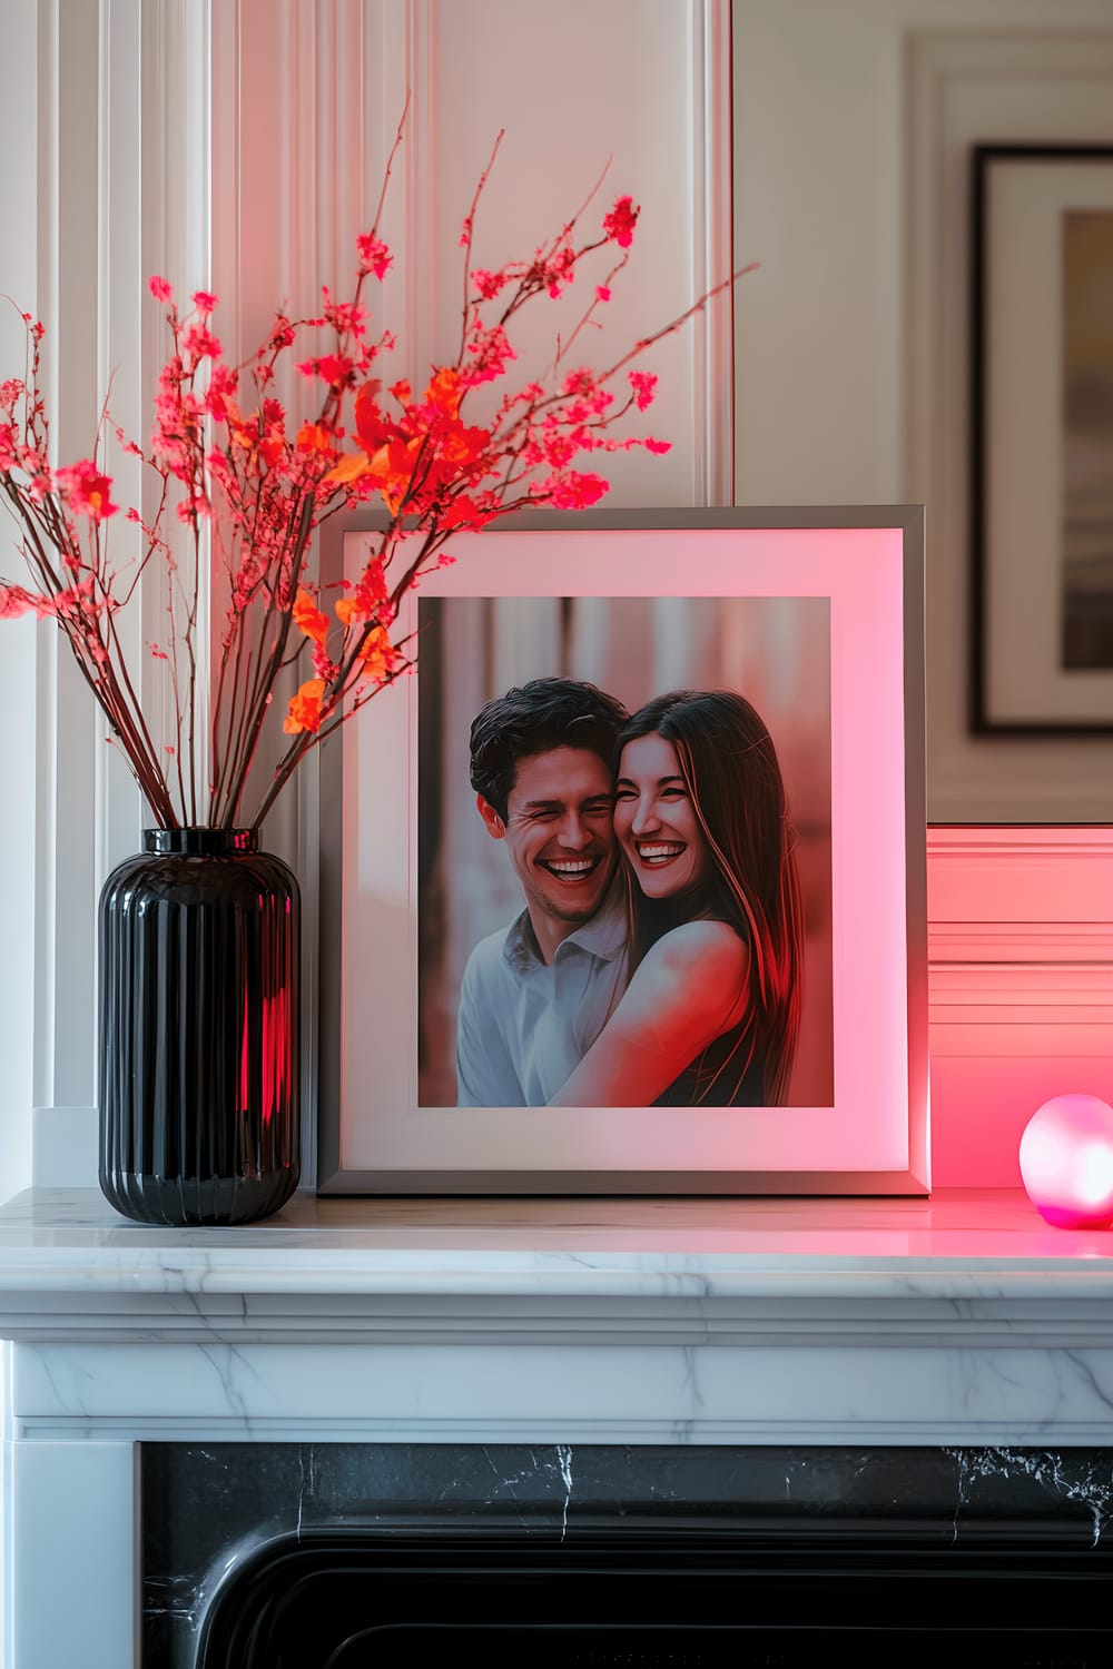
[[[400,139],[402,127],[387,162],[384,195]],[[379,237],[384,197],[374,225],[355,240],[359,264],[350,297],[337,300],[322,289],[317,315],[290,319],[279,312],[265,342],[242,366],[225,362],[212,332],[214,295],[199,290],[184,312],[165,279],[150,280],[152,295],[165,307],[172,354],[159,376],[150,449],[113,432],[159,482],[149,521],[135,507],[125,512],[135,534],[123,567],[115,566],[108,539],[118,506],[100,464],[105,424],[93,457],[63,469],[50,464],[40,391],[43,327],[23,314],[27,372],[0,384],[0,492],[20,529],[33,589],[0,584],[0,616],[32,611],[57,621],[112,739],[164,828],[244,823],[252,764],[274,723],[275,686],[289,668],[297,668],[299,688],[282,716],[289,741],[250,814],[250,826],[259,828],[302,758],[414,668],[414,644],[397,634],[400,603],[422,574],[452,561],[446,547],[456,534],[522,506],[594,504],[607,482],[577,467],[586,454],[667,451],[666,441],[649,434],[616,432],[624,419],[649,407],[656,387],[652,374],[626,367],[741,274],[634,342],[604,371],[566,369],[572,344],[611,299],[611,285],[629,259],[639,209],[631,197],[619,197],[601,230],[577,240],[589,197],[531,260],[499,270],[474,267],[476,212],[501,139],[461,237],[457,354],[451,364],[434,366],[421,394],[404,377],[384,389],[374,374],[379,357],[394,345],[389,332],[369,335],[364,305],[369,280],[382,282],[392,262]],[[507,332],[516,314],[539,295],[559,297],[582,264],[606,260],[607,252],[609,267],[574,330],[557,342],[547,371],[506,392],[484,421],[469,422],[469,397],[504,379],[516,357]],[[294,427],[272,384],[282,357],[307,337],[314,347],[297,371],[310,394],[310,414]],[[342,582],[344,594],[327,611],[310,574],[314,529],[369,501],[385,504],[385,527],[375,534],[362,572]],[[152,557],[165,564],[170,581],[165,638],[147,646],[165,673],[175,714],[165,758],[144,721],[117,634],[117,614]],[[209,778],[202,784],[197,654],[205,564],[220,596],[222,626],[205,738]]]

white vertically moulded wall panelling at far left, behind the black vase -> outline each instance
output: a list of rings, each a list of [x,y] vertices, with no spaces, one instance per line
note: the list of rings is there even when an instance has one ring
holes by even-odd
[[[68,462],[92,454],[108,391],[113,419],[147,437],[159,349],[147,274],[177,267],[194,285],[207,279],[209,5],[3,0],[0,27],[3,118],[25,159],[0,184],[8,227],[0,289],[47,325],[53,456]],[[7,376],[23,364],[7,320],[0,344]],[[127,467],[113,469],[122,489],[137,486]],[[127,531],[113,527],[113,541],[125,562]],[[20,566],[5,544],[0,574],[18,579]],[[137,850],[142,814],[57,631],[3,629],[0,681],[13,681],[7,709],[22,716],[0,759],[13,824],[0,1011],[20,1028],[0,1085],[8,1193],[33,1170],[65,1167],[65,1155],[38,1155],[32,1167],[33,1103],[55,1138],[93,1118],[97,893],[108,868]],[[140,621],[123,629],[138,648]],[[55,1118],[53,1108],[67,1115]],[[83,1142],[83,1173],[90,1153]]]

